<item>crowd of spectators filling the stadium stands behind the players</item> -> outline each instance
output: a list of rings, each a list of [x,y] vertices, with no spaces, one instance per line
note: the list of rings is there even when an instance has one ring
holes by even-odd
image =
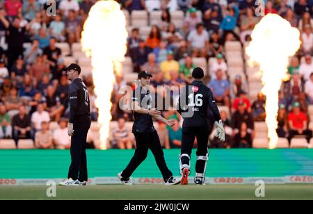
[[[181,117],[173,109],[177,97],[157,86],[179,86],[191,83],[191,72],[198,65],[194,58],[216,58],[209,67],[204,83],[214,92],[220,108],[226,141],[218,142],[211,134],[211,147],[250,148],[257,134],[255,122],[265,120],[266,97],[259,92],[251,99],[246,75],[234,78],[228,71],[225,44],[238,41],[245,47],[250,34],[262,17],[255,14],[254,0],[121,0],[125,13],[134,10],[161,11],[158,24],[143,37],[140,28],[131,28],[127,39],[127,54],[133,65],[132,72],[151,72],[157,99],[170,99],[170,110],[163,110],[166,118],[177,120],[173,127],[157,124],[164,148],[179,148],[182,141]],[[47,14],[45,0],[0,1],[0,138],[33,139],[38,149],[67,149],[68,82],[62,68],[66,55],[58,43],[73,46],[80,42],[83,22],[93,0],[56,1],[56,14]],[[172,13],[184,12],[182,27],[175,26]],[[313,1],[267,1],[265,15],[277,13],[300,31],[300,50],[291,58],[288,68],[290,79],[282,83],[279,93],[278,129],[280,138],[312,138],[313,105]],[[99,26],[101,27],[101,26]],[[287,35],[286,35],[287,36]],[[24,44],[31,44],[27,47]],[[271,50],[268,50],[271,51]],[[243,54],[244,55],[244,54]],[[244,56],[242,55],[242,58]],[[302,60],[304,59],[304,60]],[[246,74],[246,71],[242,71]],[[91,117],[97,121],[97,107],[91,74],[83,80],[90,92]],[[135,87],[135,81],[116,76],[112,93],[111,114],[115,124],[109,147],[131,149],[136,145],[127,123],[133,121],[129,111],[119,108],[122,97],[118,90],[123,85]],[[51,129],[53,124],[54,129]],[[91,138],[90,148],[95,146]]]

